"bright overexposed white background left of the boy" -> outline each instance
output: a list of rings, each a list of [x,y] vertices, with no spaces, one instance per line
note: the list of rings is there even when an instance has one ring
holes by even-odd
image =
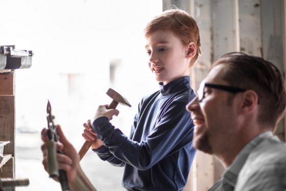
[[[113,88],[132,105],[118,106],[121,113],[114,124],[129,133],[141,97],[157,90],[146,61],[143,30],[161,10],[159,0],[0,0],[0,45],[14,44],[16,49],[34,52],[32,67],[16,70],[16,129],[35,131],[16,134],[16,177],[30,179],[29,187],[17,190],[39,190],[39,186],[57,190],[59,184],[49,179],[41,165],[39,133],[46,127],[47,99],[79,150],[84,142],[82,124],[98,104],[111,102],[105,93],[113,59],[121,60]],[[114,190],[112,184],[122,189],[122,171],[91,169],[87,165],[98,162],[91,154],[94,162],[86,159],[82,164],[94,184],[101,190]]]

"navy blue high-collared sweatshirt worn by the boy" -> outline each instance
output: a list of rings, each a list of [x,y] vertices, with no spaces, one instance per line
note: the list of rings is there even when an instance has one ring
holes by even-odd
[[[193,122],[185,106],[194,97],[189,76],[142,98],[129,137],[99,117],[92,128],[104,146],[102,160],[125,166],[122,185],[129,190],[182,190],[195,156]]]

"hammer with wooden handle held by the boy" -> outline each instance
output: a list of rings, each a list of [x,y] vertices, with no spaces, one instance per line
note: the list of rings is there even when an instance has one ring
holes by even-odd
[[[121,96],[121,94],[117,93],[115,90],[109,88],[107,90],[106,94],[110,98],[112,98],[112,102],[108,105],[107,109],[115,109],[117,107],[118,103],[131,107],[130,103],[123,96]],[[90,140],[90,141],[86,140],[84,142],[83,146],[81,147],[81,149],[79,151],[80,160],[83,158],[85,153],[88,151],[88,149],[92,145],[92,143],[93,143],[93,140]]]

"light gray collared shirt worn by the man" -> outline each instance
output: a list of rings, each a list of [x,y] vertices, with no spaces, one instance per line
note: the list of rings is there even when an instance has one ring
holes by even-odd
[[[286,145],[272,132],[252,139],[209,191],[286,190]]]

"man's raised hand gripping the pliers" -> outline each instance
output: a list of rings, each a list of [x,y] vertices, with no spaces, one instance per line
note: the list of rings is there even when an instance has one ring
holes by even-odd
[[[59,142],[56,142],[57,150],[63,151],[64,153],[64,154],[57,153],[58,168],[66,171],[67,180],[69,184],[71,184],[76,177],[77,170],[80,168],[79,164],[80,158],[74,146],[71,145],[70,142],[64,136],[61,127],[57,125],[56,128],[59,136]],[[44,144],[41,146],[41,150],[43,153],[42,164],[44,166],[45,171],[48,172],[47,148],[46,148],[46,141],[48,140],[48,138],[46,132],[47,132],[46,128],[43,128],[41,131],[41,138],[44,142]]]

